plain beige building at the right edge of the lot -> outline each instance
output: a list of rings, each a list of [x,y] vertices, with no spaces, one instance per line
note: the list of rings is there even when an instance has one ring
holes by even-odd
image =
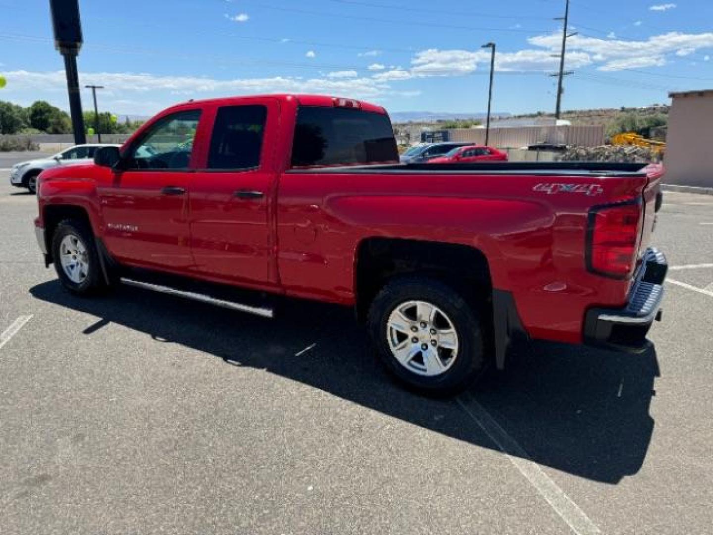
[[[713,188],[713,90],[670,97],[664,182]]]

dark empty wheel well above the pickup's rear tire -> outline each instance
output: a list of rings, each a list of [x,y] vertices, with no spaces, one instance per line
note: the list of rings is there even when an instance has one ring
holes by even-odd
[[[466,300],[491,306],[492,282],[488,260],[467,245],[369,238],[356,252],[356,312],[366,318],[369,305],[387,280],[419,273],[442,280],[463,292]]]

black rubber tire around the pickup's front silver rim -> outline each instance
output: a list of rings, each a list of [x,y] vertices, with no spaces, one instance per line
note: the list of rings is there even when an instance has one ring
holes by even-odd
[[[81,259],[86,266],[86,275],[80,282],[72,280],[62,264],[61,244],[68,236],[79,240],[85,250]],[[94,234],[86,222],[66,219],[57,225],[52,235],[52,258],[57,277],[66,290],[76,295],[93,295],[106,289],[107,285],[101,270]]]

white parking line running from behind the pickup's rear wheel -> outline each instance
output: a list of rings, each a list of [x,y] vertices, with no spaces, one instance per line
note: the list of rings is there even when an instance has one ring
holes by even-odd
[[[463,402],[463,397],[468,399],[468,404]],[[486,409],[469,394],[463,394],[456,399],[468,416],[473,419],[478,427],[495,442],[511,463],[535,487],[540,496],[560,515],[568,526],[578,535],[594,535],[601,533],[593,521],[570,499],[558,484],[548,477],[532,458],[520,447],[513,437],[486,411]]]

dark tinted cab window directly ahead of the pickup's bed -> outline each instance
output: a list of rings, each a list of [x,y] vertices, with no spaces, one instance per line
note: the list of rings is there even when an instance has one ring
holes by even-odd
[[[300,106],[292,143],[292,168],[396,163],[389,116],[351,108]]]

